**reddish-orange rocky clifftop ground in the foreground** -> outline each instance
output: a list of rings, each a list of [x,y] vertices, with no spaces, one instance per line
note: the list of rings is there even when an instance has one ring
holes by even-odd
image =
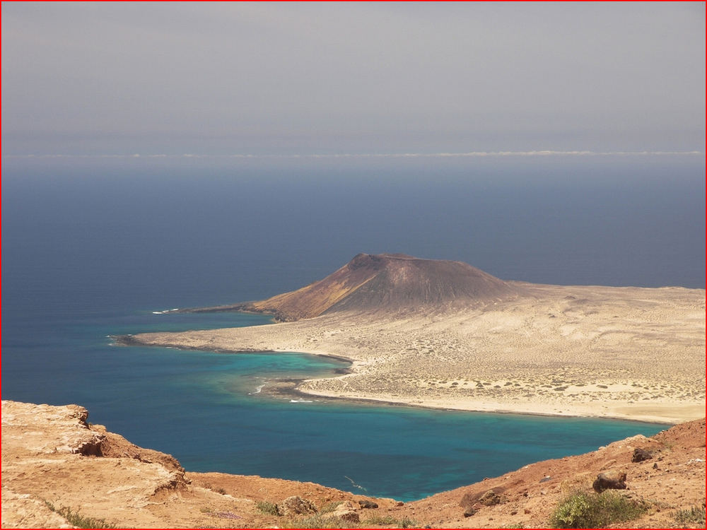
[[[599,473],[625,474],[621,495],[645,507],[617,526],[704,527],[704,419],[402,503],[313,483],[189,473],[87,418],[76,405],[2,402],[4,528],[71,528],[77,514],[129,528],[543,527],[568,492],[591,492]]]

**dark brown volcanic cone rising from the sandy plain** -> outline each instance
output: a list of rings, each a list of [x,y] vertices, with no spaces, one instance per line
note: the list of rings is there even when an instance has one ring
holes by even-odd
[[[291,293],[211,310],[247,310],[298,320],[335,311],[468,305],[517,294],[518,288],[461,261],[358,254],[326,278]]]

